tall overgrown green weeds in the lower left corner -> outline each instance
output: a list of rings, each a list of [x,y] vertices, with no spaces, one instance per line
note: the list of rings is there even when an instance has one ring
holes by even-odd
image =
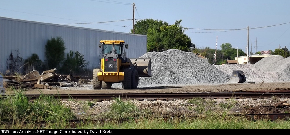
[[[15,95],[0,98],[0,128],[41,128],[38,123],[47,122],[48,127],[62,129],[68,126],[68,121],[75,116],[69,108],[52,96],[42,95],[30,102],[22,91],[15,90]],[[6,124],[8,122],[12,122]]]

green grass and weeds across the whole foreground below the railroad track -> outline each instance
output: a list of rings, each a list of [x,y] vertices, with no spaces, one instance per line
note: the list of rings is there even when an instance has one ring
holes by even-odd
[[[109,110],[98,115],[104,121],[90,121],[77,125],[77,129],[289,129],[290,122],[283,120],[251,121],[242,116],[228,115],[235,106],[229,99],[217,103],[201,98],[188,101],[189,110],[196,116],[160,117],[152,110],[139,109],[131,101],[115,98]],[[85,101],[85,106],[95,106],[93,101]],[[221,110],[216,112],[214,110]],[[51,96],[41,95],[29,101],[21,91],[7,98],[0,97],[0,129],[65,129],[71,127],[69,120],[76,117],[70,108]],[[92,118],[90,118],[92,119]],[[39,125],[45,121],[46,125]],[[13,122],[13,123],[11,123]]]

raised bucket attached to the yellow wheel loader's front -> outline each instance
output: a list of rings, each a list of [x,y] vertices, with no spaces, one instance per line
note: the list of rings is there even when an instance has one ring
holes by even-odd
[[[130,59],[133,65],[136,63],[139,77],[151,77],[151,59]]]

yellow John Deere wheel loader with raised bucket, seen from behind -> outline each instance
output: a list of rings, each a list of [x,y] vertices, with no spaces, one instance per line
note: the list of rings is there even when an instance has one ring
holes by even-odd
[[[93,88],[110,89],[113,83],[123,89],[136,89],[139,77],[151,77],[151,59],[127,58],[123,40],[101,40],[101,68],[93,70]]]

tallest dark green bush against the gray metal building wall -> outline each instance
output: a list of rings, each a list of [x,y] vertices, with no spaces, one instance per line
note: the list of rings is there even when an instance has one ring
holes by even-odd
[[[61,37],[51,38],[47,41],[45,45],[45,62],[48,69],[59,69],[61,67],[65,59],[65,50],[64,40]]]

